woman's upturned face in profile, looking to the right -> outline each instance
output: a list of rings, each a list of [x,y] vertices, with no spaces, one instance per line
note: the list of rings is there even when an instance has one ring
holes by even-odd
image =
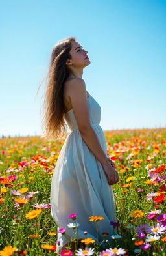
[[[70,50],[72,58],[67,60],[66,64],[75,68],[88,66],[91,62],[89,61],[87,53],[88,51],[85,51],[78,42],[72,42],[72,48]]]

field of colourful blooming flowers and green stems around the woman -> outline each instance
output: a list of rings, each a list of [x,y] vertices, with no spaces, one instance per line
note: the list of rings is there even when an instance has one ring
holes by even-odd
[[[166,128],[104,132],[119,182],[113,185],[118,235],[88,238],[61,255],[166,255]],[[65,139],[65,138],[64,138]],[[0,139],[0,256],[57,255],[50,188],[61,141],[40,137]],[[77,231],[77,213],[71,218]],[[102,216],[89,216],[102,225]],[[62,231],[65,235],[65,227]],[[106,246],[103,246],[105,244]]]

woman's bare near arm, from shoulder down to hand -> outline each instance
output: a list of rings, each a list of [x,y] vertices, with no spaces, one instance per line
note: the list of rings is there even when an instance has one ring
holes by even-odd
[[[68,81],[67,88],[80,135],[97,160],[101,162],[108,184],[113,185],[119,181],[118,173],[115,171],[112,162],[110,163],[110,158],[102,150],[95,130],[90,124],[84,80],[82,78],[73,78]]]

